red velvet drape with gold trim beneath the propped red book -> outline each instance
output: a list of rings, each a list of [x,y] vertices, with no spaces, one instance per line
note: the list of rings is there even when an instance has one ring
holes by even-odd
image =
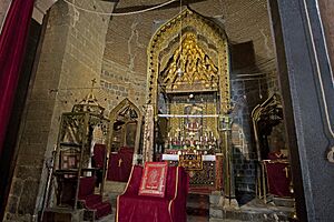
[[[168,167],[165,198],[138,195],[143,167],[134,165],[125,192],[117,196],[116,222],[186,222],[189,179],[180,167]]]

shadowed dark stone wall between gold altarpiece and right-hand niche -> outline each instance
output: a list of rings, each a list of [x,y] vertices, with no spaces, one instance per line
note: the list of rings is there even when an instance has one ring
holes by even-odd
[[[256,193],[258,161],[250,114],[268,98],[267,80],[266,73],[252,79],[247,74],[232,79],[232,160],[239,203],[249,201]]]

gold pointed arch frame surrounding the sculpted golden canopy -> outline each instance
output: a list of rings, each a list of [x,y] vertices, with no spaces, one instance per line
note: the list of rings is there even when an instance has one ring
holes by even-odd
[[[187,37],[194,36],[198,48],[206,53],[217,67],[218,88],[222,112],[227,113],[229,102],[229,57],[228,40],[225,31],[212,20],[191,11],[183,10],[166,22],[153,36],[148,46],[148,104],[156,104],[158,99],[159,78],[175,52],[185,44]]]

